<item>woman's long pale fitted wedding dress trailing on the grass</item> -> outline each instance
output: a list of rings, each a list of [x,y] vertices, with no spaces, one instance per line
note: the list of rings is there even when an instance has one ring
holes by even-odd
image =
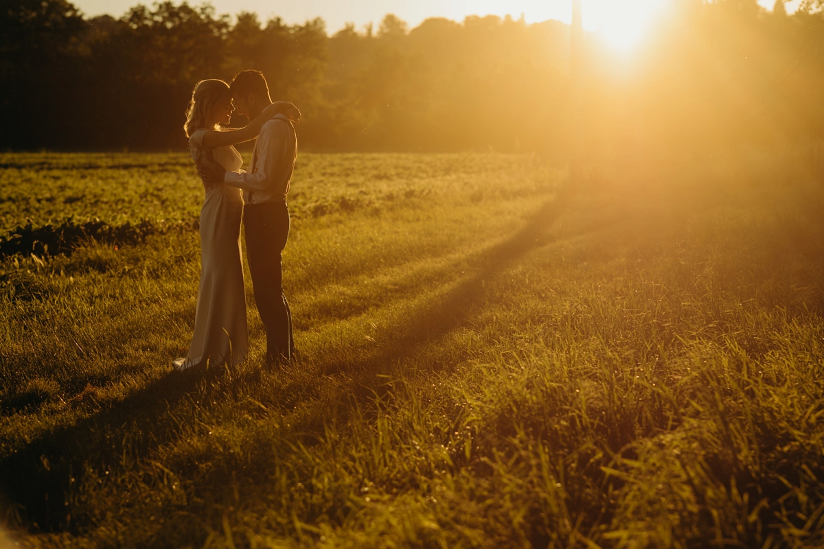
[[[243,165],[235,147],[206,149],[199,129],[189,140],[194,162],[217,162],[225,170]],[[172,362],[178,370],[195,365],[240,364],[249,351],[246,326],[246,291],[241,263],[241,218],[243,198],[239,188],[207,184],[200,210],[200,286],[194,314],[194,335],[185,358]]]

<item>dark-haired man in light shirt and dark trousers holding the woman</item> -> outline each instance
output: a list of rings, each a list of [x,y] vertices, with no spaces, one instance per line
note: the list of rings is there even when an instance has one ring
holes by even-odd
[[[272,103],[269,86],[259,71],[237,73],[229,89],[237,113],[250,120]],[[296,113],[292,118],[299,116]],[[255,305],[266,328],[267,365],[288,363],[295,353],[292,312],[283,293],[281,254],[289,235],[286,195],[296,158],[293,123],[287,114],[278,114],[260,130],[246,171],[216,167],[208,174],[201,174],[210,182],[225,182],[243,189],[246,258],[255,290]]]

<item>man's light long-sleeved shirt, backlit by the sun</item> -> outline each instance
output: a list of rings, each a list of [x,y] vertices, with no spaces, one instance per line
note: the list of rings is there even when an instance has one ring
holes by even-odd
[[[227,171],[223,180],[243,189],[243,202],[283,202],[297,158],[297,137],[292,123],[278,114],[260,129],[248,170]]]

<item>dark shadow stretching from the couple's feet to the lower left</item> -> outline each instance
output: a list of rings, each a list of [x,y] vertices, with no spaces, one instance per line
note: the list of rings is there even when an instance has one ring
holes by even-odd
[[[225,381],[225,368],[171,372],[124,400],[106,404],[96,415],[55,430],[0,462],[0,523],[32,531],[77,532],[90,523],[77,505],[78,486],[87,469],[116,478],[129,463],[176,436],[169,411],[175,402],[198,394],[201,384]],[[222,388],[233,391],[260,370],[232,376]],[[208,391],[209,388],[206,388]],[[295,398],[301,398],[296,394]],[[293,402],[287,402],[292,404]]]

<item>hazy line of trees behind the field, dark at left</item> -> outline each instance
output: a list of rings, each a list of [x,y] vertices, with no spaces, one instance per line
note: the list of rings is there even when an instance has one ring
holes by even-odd
[[[824,136],[824,18],[778,2],[677,0],[632,60],[588,37],[588,147]],[[327,35],[208,5],[87,19],[66,0],[2,0],[0,147],[178,150],[194,83],[262,70],[316,150],[553,151],[574,117],[569,26],[396,16]],[[242,123],[242,120],[238,120]]]

